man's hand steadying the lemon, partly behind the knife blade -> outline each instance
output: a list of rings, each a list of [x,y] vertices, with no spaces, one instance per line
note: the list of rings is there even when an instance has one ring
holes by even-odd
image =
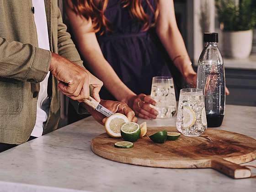
[[[135,117],[135,113],[133,110],[128,107],[128,105],[124,102],[119,102],[119,101],[109,101],[109,100],[101,100],[100,104],[113,113],[122,113],[124,114],[130,122],[137,122],[138,119]],[[101,123],[104,125],[106,122],[107,117],[102,115],[100,112],[97,112],[96,110],[93,110],[91,107],[85,105],[85,103],[80,103],[80,106],[85,107],[91,115],[96,119],[97,122]]]

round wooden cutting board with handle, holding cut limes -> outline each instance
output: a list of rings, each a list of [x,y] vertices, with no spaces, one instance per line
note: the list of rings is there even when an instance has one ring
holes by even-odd
[[[238,164],[256,159],[256,140],[229,131],[208,128],[199,137],[181,134],[175,141],[153,143],[149,135],[161,130],[177,132],[175,127],[148,128],[147,137],[134,142],[133,148],[119,149],[114,144],[123,139],[103,133],[91,140],[91,149],[108,160],[163,168],[213,168],[232,178],[247,178],[251,170]]]

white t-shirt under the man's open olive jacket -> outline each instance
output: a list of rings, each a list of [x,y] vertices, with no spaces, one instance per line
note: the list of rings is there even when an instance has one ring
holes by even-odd
[[[32,0],[32,4],[35,8],[34,21],[37,27],[38,47],[50,50],[44,0]],[[40,82],[40,91],[37,101],[37,119],[31,133],[34,137],[39,137],[43,134],[43,122],[47,121],[48,118],[50,108],[50,98],[47,94],[49,74],[50,72],[48,72],[45,79]]]

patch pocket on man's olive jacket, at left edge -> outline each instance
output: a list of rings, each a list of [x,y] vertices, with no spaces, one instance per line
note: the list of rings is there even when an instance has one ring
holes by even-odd
[[[23,82],[0,78],[0,114],[18,114],[23,107]]]

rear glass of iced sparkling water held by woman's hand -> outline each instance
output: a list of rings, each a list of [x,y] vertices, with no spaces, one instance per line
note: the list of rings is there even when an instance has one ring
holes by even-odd
[[[151,97],[156,101],[156,106],[151,106],[158,111],[157,118],[171,118],[176,112],[176,97],[172,77],[153,77]]]

